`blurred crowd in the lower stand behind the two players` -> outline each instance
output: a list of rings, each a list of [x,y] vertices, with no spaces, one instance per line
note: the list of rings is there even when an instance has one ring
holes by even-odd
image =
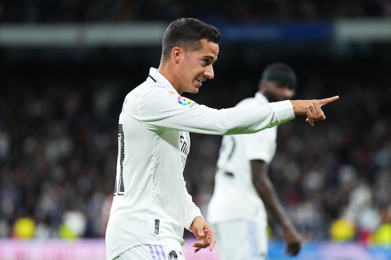
[[[118,113],[125,95],[157,64],[139,62],[142,51],[126,66],[119,60],[134,51],[73,53],[79,58],[62,62],[58,54],[31,52],[30,58],[19,51],[4,55],[0,64],[0,237],[103,237]],[[270,176],[283,205],[308,240],[372,243],[391,223],[389,60],[283,61],[297,71],[296,98],[340,95],[315,127],[300,117],[279,126]],[[216,78],[189,97],[215,108],[233,106],[254,95],[264,65],[217,63]],[[185,180],[204,214],[220,140],[192,134]],[[271,237],[280,238],[273,219],[270,227]]]

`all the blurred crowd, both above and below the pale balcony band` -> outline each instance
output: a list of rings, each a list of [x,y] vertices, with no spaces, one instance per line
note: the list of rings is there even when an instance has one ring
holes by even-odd
[[[386,17],[391,0],[0,1],[0,22],[170,21],[178,16],[217,22]],[[215,108],[234,106],[254,95],[261,70],[274,61],[287,62],[297,72],[297,99],[340,95],[325,107],[327,120],[315,127],[300,117],[279,126],[271,179],[305,239],[391,244],[391,48],[319,48],[301,46],[289,54],[291,49],[279,44],[221,46],[216,78],[188,96]],[[104,236],[119,111],[125,95],[158,65],[159,55],[160,49],[152,47],[0,48],[0,237]],[[206,215],[221,137],[191,136],[185,180]],[[271,238],[281,238],[273,219],[270,230]]]

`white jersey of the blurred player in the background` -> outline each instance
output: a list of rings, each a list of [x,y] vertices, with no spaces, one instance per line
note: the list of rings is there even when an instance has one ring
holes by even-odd
[[[237,107],[266,104],[257,92]],[[276,153],[277,126],[249,135],[224,136],[221,141],[213,196],[208,205],[211,224],[228,220],[252,220],[267,223],[264,204],[252,181],[250,160],[270,163]]]

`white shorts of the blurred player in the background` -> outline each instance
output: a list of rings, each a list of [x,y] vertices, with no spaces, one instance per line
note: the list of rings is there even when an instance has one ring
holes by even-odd
[[[233,220],[213,225],[221,260],[266,260],[266,223]]]

